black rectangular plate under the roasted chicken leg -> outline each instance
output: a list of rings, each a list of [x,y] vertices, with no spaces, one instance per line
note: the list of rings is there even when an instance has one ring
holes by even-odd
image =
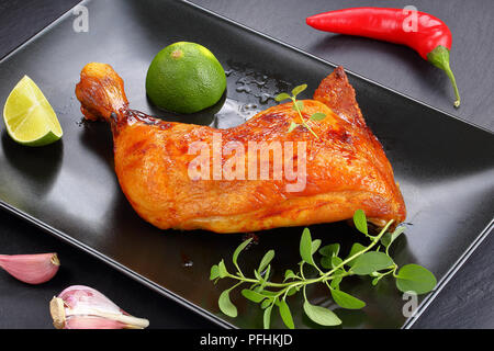
[[[227,71],[227,100],[217,115],[210,110],[182,121],[225,127],[243,123],[245,110],[273,105],[276,93],[296,84],[308,84],[304,97],[308,98],[335,66],[182,1],[82,4],[89,10],[89,32],[77,33],[74,21],[80,13],[68,12],[0,63],[0,101],[29,75],[50,101],[65,132],[63,140],[52,146],[25,148],[14,144],[2,125],[1,206],[221,326],[261,328],[261,310],[239,295],[233,297],[239,317],[221,314],[216,302],[227,285],[209,281],[211,265],[222,258],[228,261],[245,236],[160,231],[141,219],[117,184],[109,126],[81,122],[74,89],[86,64],[108,63],[124,79],[133,109],[164,115],[146,99],[147,67],[171,43],[200,43]],[[440,281],[438,291],[492,227],[494,137],[362,77],[350,72],[349,78],[407,205],[406,235],[396,241],[394,257],[398,264],[415,262],[431,270]],[[341,242],[344,250],[362,239],[345,223],[311,229],[313,237]],[[280,280],[284,269],[294,269],[299,261],[301,231],[258,233],[258,244],[242,256],[242,264],[251,272],[268,249],[276,249],[273,280]],[[368,279],[351,279],[344,288],[367,302],[362,310],[337,310],[344,328],[413,324],[403,316],[404,301],[391,280],[372,287]],[[324,287],[307,293],[314,304],[335,308]],[[429,294],[422,306],[434,296]],[[294,297],[291,306],[297,327],[317,327],[303,316],[300,298]],[[274,314],[273,327],[281,326]]]

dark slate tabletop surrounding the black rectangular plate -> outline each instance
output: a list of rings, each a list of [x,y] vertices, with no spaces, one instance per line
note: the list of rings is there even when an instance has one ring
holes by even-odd
[[[102,1],[102,0],[100,0]],[[0,0],[0,57],[41,31],[78,1]],[[194,0],[214,12],[303,50],[339,64],[435,107],[494,129],[494,2],[395,1],[442,19],[453,33],[451,65],[462,93],[462,106],[441,71],[406,47],[366,38],[321,33],[304,24],[307,15],[356,5],[388,5],[386,1]],[[440,131],[438,131],[440,133]],[[1,181],[1,180],[0,180]],[[434,234],[431,234],[434,235]],[[26,286],[0,272],[0,328],[52,328],[48,302],[72,284],[90,285],[128,313],[146,317],[150,328],[214,328],[92,257],[61,244],[40,229],[0,211],[0,253],[58,252],[63,265],[50,282]],[[414,328],[494,327],[494,240],[487,237]]]

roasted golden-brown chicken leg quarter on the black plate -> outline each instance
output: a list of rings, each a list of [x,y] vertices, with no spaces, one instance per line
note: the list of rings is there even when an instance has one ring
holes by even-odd
[[[228,129],[147,116],[128,109],[122,79],[104,64],[92,63],[82,69],[76,94],[87,118],[103,118],[111,124],[122,191],[138,215],[158,228],[245,233],[349,219],[359,208],[378,226],[405,219],[405,204],[392,167],[366,125],[340,67],[322,81],[314,100],[303,101],[305,118],[315,112],[326,114],[323,121],[307,122],[317,137],[303,126],[288,132],[292,121],[300,123],[292,103],[270,107]],[[190,152],[191,144],[201,141],[214,149],[215,137],[222,145],[292,141],[293,165],[301,165],[296,145],[304,141],[304,186],[289,191],[288,185],[294,181],[285,177],[191,177],[190,166],[198,157]],[[272,178],[278,160],[273,152],[268,163]],[[220,162],[225,165],[235,155],[223,154]],[[246,169],[258,162],[249,155],[245,152]]]

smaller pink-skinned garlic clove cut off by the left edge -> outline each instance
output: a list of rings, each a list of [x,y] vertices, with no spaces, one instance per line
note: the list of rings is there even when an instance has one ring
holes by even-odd
[[[24,283],[41,284],[55,276],[60,261],[56,253],[0,254],[0,267]]]

